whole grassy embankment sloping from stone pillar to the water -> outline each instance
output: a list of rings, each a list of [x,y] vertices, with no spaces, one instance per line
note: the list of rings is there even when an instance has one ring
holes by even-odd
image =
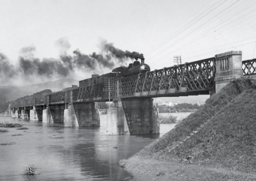
[[[134,176],[155,180],[256,180],[255,83],[229,83],[120,165]]]

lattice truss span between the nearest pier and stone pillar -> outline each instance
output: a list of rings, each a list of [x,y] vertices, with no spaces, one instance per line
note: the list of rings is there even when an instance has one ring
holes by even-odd
[[[121,78],[115,84],[119,98],[210,91],[215,72],[215,58],[209,58]]]

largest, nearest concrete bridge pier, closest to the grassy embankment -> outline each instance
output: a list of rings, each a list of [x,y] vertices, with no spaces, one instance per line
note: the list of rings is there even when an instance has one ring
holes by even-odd
[[[107,134],[159,134],[158,109],[152,98],[127,98],[113,100],[108,109]]]

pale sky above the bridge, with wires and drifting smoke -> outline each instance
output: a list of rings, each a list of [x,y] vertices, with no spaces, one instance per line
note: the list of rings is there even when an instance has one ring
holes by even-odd
[[[242,51],[243,60],[256,58],[255,0],[0,0],[0,4],[1,85],[9,85],[8,80],[12,84],[82,80],[134,61],[118,60],[105,45],[143,54],[151,70],[173,66],[176,55],[182,63],[231,50]],[[93,52],[112,55],[94,63]],[[39,68],[32,70],[35,67]]]

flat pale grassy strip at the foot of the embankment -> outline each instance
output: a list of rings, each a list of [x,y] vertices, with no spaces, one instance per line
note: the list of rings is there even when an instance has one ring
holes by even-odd
[[[234,171],[223,167],[214,168],[170,160],[156,160],[155,158],[145,159],[140,156],[133,156],[127,162],[123,160],[122,164],[125,164],[125,169],[134,175],[132,181],[252,181],[256,179],[253,173]]]

